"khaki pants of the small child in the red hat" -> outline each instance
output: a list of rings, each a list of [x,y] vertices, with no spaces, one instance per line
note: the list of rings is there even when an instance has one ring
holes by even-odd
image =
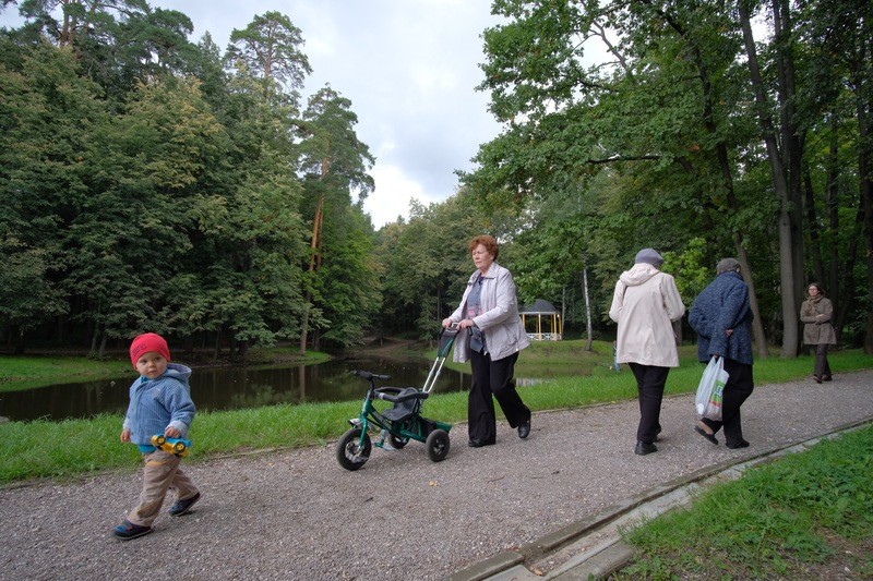
[[[144,453],[143,492],[140,504],[128,515],[128,520],[140,526],[151,526],[160,512],[160,506],[170,488],[178,499],[188,499],[198,494],[198,487],[179,467],[182,459],[176,455],[155,450]]]

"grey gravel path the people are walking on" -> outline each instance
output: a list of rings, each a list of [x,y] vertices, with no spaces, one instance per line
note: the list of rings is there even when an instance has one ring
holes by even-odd
[[[638,411],[625,402],[535,413],[527,440],[504,423],[486,448],[468,448],[458,424],[441,463],[417,441],[373,449],[358,472],[339,468],[333,443],[188,463],[203,492],[194,511],[130,542],[110,531],[139,475],[7,487],[0,579],[442,579],[701,468],[873,419],[872,386],[873,372],[758,386],[745,450],[694,433],[693,396],[680,396],[665,400],[646,457],[633,453]]]

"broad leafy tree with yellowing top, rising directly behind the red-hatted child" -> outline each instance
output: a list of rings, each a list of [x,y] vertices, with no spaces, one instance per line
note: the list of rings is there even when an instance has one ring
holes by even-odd
[[[95,337],[174,330],[158,312],[191,250],[191,203],[222,129],[195,82],[141,85],[113,122],[95,128],[95,171],[75,201],[65,288],[88,307]]]

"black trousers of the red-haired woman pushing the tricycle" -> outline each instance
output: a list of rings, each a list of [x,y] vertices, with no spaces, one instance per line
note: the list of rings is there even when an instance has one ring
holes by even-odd
[[[494,441],[497,437],[497,417],[494,415],[494,395],[503,415],[512,427],[518,427],[530,420],[530,410],[522,401],[515,383],[512,380],[518,353],[491,361],[491,355],[470,352],[473,368],[473,387],[467,399],[467,422],[470,439]]]

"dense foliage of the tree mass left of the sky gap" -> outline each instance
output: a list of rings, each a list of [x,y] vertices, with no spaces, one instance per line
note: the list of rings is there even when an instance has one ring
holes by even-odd
[[[299,111],[312,71],[287,16],[234,31],[222,60],[143,0],[20,8],[0,33],[0,330],[17,351],[72,336],[101,354],[154,330],[244,355],[299,334],[313,289],[324,337],[362,341],[373,160],[348,99],[325,88]],[[312,280],[316,144],[336,223]]]

